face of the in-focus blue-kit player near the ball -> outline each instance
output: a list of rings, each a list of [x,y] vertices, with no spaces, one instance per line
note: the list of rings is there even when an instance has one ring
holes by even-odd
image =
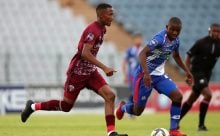
[[[170,40],[177,38],[181,31],[181,24],[168,24],[167,25],[167,36]]]

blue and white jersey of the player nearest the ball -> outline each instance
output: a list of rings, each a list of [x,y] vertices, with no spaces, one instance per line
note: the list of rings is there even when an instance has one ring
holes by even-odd
[[[163,30],[149,40],[146,46],[151,50],[149,56],[146,57],[150,75],[163,75],[166,60],[173,51],[179,51],[179,38],[170,41],[166,30]]]

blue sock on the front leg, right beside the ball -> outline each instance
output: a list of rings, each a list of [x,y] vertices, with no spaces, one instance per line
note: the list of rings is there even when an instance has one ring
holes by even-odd
[[[177,129],[181,113],[181,104],[180,103],[172,103],[170,109],[170,130]]]

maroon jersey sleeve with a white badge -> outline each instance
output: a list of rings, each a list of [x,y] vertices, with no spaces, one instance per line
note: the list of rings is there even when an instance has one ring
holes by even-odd
[[[97,33],[92,28],[88,28],[84,31],[84,43],[94,45],[96,43],[97,37]]]

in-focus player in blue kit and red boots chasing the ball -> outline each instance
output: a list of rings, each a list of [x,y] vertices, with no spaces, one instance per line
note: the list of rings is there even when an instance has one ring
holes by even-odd
[[[192,84],[193,82],[192,74],[184,65],[178,51],[178,35],[181,28],[182,23],[179,18],[170,18],[166,29],[149,40],[140,52],[140,65],[135,71],[134,79],[134,102],[120,103],[116,110],[116,117],[119,120],[123,118],[125,112],[136,116],[141,115],[145,109],[147,99],[154,88],[172,101],[170,109],[170,136],[186,136],[177,129],[181,113],[182,94],[164,71],[165,62],[172,54],[176,63],[185,71],[187,83]]]

